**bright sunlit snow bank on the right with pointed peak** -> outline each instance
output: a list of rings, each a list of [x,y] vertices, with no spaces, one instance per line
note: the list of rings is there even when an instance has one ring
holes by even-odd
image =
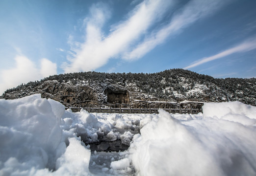
[[[256,126],[243,125],[244,119],[255,118],[247,111],[255,107],[239,103],[243,107],[237,110],[237,104],[229,103],[228,110],[223,104],[213,104],[213,110],[206,104],[207,117],[187,121],[159,110],[159,116],[133,137],[129,149],[133,166],[142,176],[256,175]],[[215,112],[217,118],[212,118]]]

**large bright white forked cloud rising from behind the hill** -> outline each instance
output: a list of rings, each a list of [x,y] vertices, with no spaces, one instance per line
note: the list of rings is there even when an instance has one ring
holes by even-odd
[[[102,26],[108,20],[109,9],[104,5],[94,5],[91,17],[84,20],[86,38],[82,44],[72,45],[75,56],[65,63],[65,72],[90,71],[105,65],[109,58],[117,57],[127,51],[129,46],[142,35],[172,4],[171,0],[145,0],[129,13],[127,20],[119,22],[108,36],[102,33]],[[105,15],[107,14],[107,15]],[[107,17],[107,18],[106,18]]]

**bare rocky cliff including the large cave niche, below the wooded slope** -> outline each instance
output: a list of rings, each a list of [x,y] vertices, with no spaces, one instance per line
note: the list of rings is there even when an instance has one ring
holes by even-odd
[[[40,93],[42,98],[51,98],[59,101],[66,107],[112,107],[120,108],[131,106],[132,108],[172,108],[178,109],[178,102],[159,101],[156,97],[140,92],[131,92],[117,85],[108,85],[101,92],[90,86],[76,86],[67,83],[59,83],[56,80],[45,81],[42,84],[21,91],[5,93],[1,98],[16,99],[31,94]],[[189,108],[190,105],[183,107]],[[201,108],[199,106],[198,108]]]

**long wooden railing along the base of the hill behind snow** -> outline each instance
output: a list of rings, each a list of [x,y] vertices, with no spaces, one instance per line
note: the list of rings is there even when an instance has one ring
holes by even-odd
[[[66,107],[67,109],[71,109],[73,112],[78,112],[81,109],[86,110],[87,112],[97,112],[97,113],[158,113],[159,109],[133,109],[133,108],[81,108],[81,107],[76,107],[76,108],[71,108],[71,107]],[[180,113],[180,114],[198,114],[199,112],[203,113],[202,109],[162,109],[166,110],[169,113]]]

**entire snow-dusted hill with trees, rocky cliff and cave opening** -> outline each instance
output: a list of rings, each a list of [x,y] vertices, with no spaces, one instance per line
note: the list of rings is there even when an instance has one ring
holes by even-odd
[[[72,107],[196,108],[202,102],[223,101],[255,106],[256,79],[215,79],[182,69],[152,74],[80,72],[20,85],[6,90],[0,98],[34,93]]]

